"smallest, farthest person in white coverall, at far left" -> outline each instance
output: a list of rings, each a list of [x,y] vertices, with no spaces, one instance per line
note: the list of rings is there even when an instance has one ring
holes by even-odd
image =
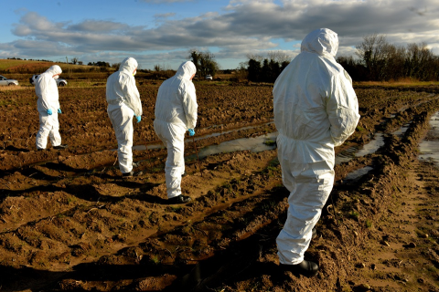
[[[58,65],[54,65],[43,74],[40,74],[35,81],[35,92],[37,94],[37,110],[39,113],[39,130],[37,132],[37,151],[43,151],[48,145],[48,138],[54,149],[65,149],[68,146],[61,144],[59,135],[58,114],[59,92],[57,81],[62,73]]]

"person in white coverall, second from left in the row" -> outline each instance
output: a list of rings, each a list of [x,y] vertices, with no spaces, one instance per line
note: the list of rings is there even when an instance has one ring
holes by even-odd
[[[136,165],[133,163],[133,118],[137,122],[142,120],[142,102],[134,79],[136,71],[137,61],[126,57],[119,70],[107,79],[107,113],[116,134],[119,169],[124,177],[142,174],[133,171],[133,164]]]

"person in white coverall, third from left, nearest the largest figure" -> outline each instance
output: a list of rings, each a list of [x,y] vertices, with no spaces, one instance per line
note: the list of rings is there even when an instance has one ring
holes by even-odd
[[[187,61],[174,77],[158,89],[155,101],[154,130],[167,148],[165,166],[168,203],[187,203],[191,199],[181,193],[181,176],[185,173],[185,132],[195,134],[197,97],[192,83],[197,68]]]

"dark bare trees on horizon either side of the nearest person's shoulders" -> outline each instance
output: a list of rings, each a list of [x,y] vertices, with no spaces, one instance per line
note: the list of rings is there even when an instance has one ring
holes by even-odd
[[[439,56],[426,43],[406,47],[389,43],[386,36],[364,36],[356,46],[355,57],[337,57],[354,81],[391,81],[412,78],[419,81],[439,80]],[[282,51],[269,52],[268,57],[248,56],[237,69],[253,82],[273,83],[291,59]]]

